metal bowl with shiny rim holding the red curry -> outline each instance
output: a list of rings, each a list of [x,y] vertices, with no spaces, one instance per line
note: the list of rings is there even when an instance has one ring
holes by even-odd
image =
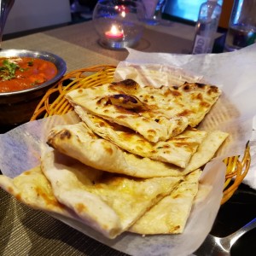
[[[45,92],[51,86],[54,86],[55,82],[60,80],[67,71],[66,62],[60,56],[49,52],[27,49],[3,49],[0,51],[0,59],[15,57],[29,57],[32,60],[49,61],[55,65],[56,70],[54,76],[42,84],[35,84],[31,88],[22,90],[0,92],[1,126],[20,125],[31,119],[32,113]]]

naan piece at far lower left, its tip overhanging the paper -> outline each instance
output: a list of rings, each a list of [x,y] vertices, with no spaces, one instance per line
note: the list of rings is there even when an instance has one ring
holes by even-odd
[[[50,183],[37,166],[19,176],[0,176],[0,187],[29,207],[47,212],[55,212],[67,217],[74,213],[59,203],[53,195]]]

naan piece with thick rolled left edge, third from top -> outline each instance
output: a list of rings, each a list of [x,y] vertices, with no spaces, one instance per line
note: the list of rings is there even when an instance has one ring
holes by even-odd
[[[127,153],[98,137],[83,122],[55,126],[49,133],[48,143],[62,154],[99,170],[133,177],[166,177],[185,175],[205,165],[227,136],[228,134],[222,131],[208,132],[185,169]]]

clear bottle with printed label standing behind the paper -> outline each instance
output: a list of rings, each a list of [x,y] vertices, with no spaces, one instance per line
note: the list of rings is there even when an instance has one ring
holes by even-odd
[[[202,3],[195,26],[195,39],[192,54],[211,53],[214,34],[217,32],[221,6],[218,0],[208,0]]]

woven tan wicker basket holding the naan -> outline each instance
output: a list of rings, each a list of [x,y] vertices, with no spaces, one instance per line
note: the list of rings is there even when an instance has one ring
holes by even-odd
[[[70,90],[88,88],[113,81],[114,66],[94,66],[81,68],[72,73],[67,73],[59,82],[49,89],[38,107],[35,109],[32,119],[48,117],[54,114],[64,114],[73,107],[65,98]],[[226,179],[224,183],[224,194],[221,204],[228,201],[241,184],[251,163],[250,148],[247,143],[243,156],[233,156],[224,159],[227,166]]]

